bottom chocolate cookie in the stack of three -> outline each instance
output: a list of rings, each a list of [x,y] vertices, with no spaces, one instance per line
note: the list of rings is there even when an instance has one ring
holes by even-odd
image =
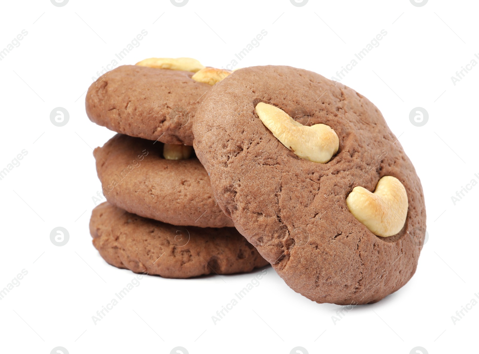
[[[250,272],[266,262],[235,228],[178,227],[107,202],[93,209],[93,245],[118,268],[165,278]]]

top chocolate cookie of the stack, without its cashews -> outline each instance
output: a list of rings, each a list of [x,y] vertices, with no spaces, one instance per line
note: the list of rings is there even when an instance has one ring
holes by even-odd
[[[86,96],[90,120],[118,133],[193,145],[192,122],[211,86],[193,72],[123,65],[93,82]]]

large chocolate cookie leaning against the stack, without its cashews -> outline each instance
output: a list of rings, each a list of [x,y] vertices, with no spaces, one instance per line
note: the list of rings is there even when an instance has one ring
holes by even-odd
[[[303,126],[331,127],[337,153],[333,147],[327,163],[299,158],[262,123],[258,103]],[[422,241],[414,237],[426,228],[421,182],[361,94],[303,69],[239,69],[209,92],[193,133],[218,205],[295,291],[319,303],[365,304],[416,271]],[[409,205],[402,229],[390,237],[373,234],[346,205],[354,187],[372,192],[383,176],[402,183]]]

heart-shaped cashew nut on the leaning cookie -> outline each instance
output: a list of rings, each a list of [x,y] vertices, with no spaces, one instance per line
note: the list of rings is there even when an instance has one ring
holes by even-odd
[[[346,204],[356,219],[381,237],[396,235],[404,226],[408,214],[406,189],[392,176],[381,178],[374,193],[363,187],[354,187],[346,198]]]

